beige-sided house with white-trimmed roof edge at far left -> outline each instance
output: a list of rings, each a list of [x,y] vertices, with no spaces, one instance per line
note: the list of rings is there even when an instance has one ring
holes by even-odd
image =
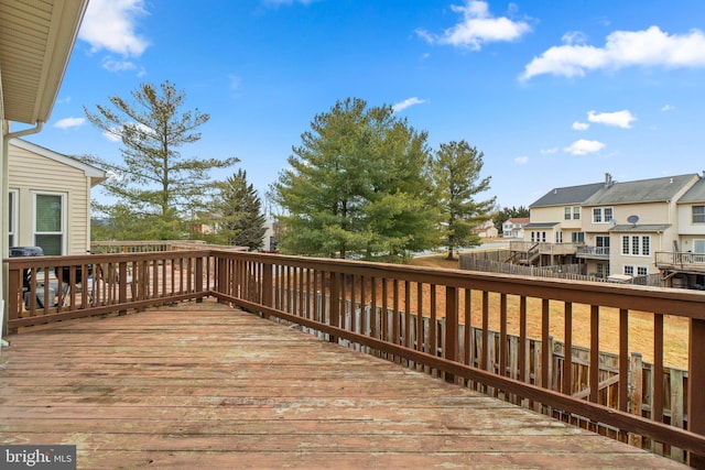
[[[90,188],[106,172],[20,139],[10,141],[8,162],[9,245],[86,254]]]

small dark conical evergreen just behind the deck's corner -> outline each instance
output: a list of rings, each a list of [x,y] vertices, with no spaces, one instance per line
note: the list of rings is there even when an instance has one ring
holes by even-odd
[[[217,184],[218,195],[213,210],[218,230],[217,240],[224,244],[248,247],[257,250],[264,238],[264,216],[257,190],[247,183],[247,173],[239,170]]]

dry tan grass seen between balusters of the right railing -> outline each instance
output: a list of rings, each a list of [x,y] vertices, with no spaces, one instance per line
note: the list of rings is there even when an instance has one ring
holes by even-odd
[[[410,262],[411,265],[457,269],[457,260],[446,260],[445,255],[422,256]],[[403,288],[403,286],[402,286]],[[411,305],[416,305],[415,291],[411,292]],[[388,293],[388,297],[393,295]],[[400,294],[404,298],[403,293]],[[499,330],[499,294],[490,294],[489,311],[490,328]],[[430,308],[429,286],[425,286],[424,293],[424,311]],[[481,293],[473,292],[471,297],[471,324],[474,326],[481,325]],[[391,306],[391,297],[389,298]],[[403,304],[403,300],[402,300]],[[445,289],[438,287],[436,289],[436,305],[438,306],[438,317],[443,316],[445,305]],[[460,311],[464,309],[462,302]],[[519,335],[519,297],[508,296],[508,332]],[[532,338],[541,338],[541,300],[529,299],[527,306],[527,330]],[[557,341],[563,341],[564,337],[564,305],[562,302],[550,303],[550,331]],[[619,311],[615,308],[600,308],[599,323],[599,348],[605,352],[617,352],[619,349]],[[663,361],[665,365],[680,369],[687,368],[687,338],[688,323],[685,318],[666,316],[664,319],[664,352]],[[573,343],[575,346],[589,347],[590,343],[590,307],[589,305],[573,305]],[[629,352],[639,352],[643,356],[644,361],[653,360],[653,315],[641,311],[629,313]]]

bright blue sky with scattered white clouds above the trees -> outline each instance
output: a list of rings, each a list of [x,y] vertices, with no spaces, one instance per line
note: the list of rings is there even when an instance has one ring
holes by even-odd
[[[704,31],[702,0],[90,0],[52,119],[26,139],[118,161],[83,107],[169,79],[210,114],[183,153],[238,156],[263,193],[314,116],[356,97],[433,149],[466,140],[482,197],[529,206],[607,172],[704,171]]]

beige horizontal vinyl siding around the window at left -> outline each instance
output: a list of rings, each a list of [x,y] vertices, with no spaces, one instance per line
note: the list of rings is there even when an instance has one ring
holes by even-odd
[[[82,170],[10,144],[10,189],[18,190],[18,245],[33,245],[33,195],[36,192],[63,194],[66,215],[64,221],[64,254],[85,254],[90,247],[89,195],[90,178]]]

